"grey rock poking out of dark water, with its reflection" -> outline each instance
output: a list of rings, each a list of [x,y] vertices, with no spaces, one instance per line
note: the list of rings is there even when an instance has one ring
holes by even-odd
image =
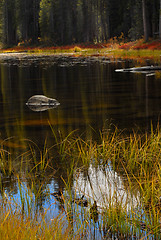
[[[30,97],[26,105],[33,111],[40,112],[47,109],[56,108],[60,103],[53,98],[48,98],[44,95],[34,95]]]

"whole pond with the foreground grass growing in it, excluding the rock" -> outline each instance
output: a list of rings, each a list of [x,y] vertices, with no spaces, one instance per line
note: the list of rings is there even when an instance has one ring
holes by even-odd
[[[1,239],[160,239],[160,80],[115,72],[145,63],[2,56]]]

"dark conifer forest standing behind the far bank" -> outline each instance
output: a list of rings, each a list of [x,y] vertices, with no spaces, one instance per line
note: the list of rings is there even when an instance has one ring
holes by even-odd
[[[159,35],[161,0],[0,0],[0,41],[55,45]]]

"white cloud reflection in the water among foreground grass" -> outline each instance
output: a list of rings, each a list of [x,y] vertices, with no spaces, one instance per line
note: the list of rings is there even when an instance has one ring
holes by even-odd
[[[88,197],[92,203],[96,201],[101,211],[109,208],[111,204],[114,206],[121,204],[127,210],[134,209],[140,204],[139,192],[136,195],[132,194],[124,185],[121,176],[112,170],[110,165],[103,169],[102,166],[94,167],[91,164],[86,176],[77,172],[74,189]]]

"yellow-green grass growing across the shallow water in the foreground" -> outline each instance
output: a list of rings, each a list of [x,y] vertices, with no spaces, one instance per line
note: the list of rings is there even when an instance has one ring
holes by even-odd
[[[36,150],[30,150],[15,163],[11,154],[1,149],[1,211],[0,239],[85,239],[95,231],[110,239],[160,239],[161,237],[161,133],[159,128],[150,134],[133,133],[124,135],[118,129],[114,133],[100,133],[99,143],[84,141],[75,133],[65,139],[53,131],[55,145],[44,147],[36,158]],[[54,151],[53,151],[54,150]],[[50,151],[52,157],[50,157]],[[54,153],[54,155],[53,155]],[[25,155],[27,154],[27,158]],[[53,157],[54,156],[54,157]],[[55,164],[56,158],[59,164]],[[19,164],[19,167],[17,166]],[[105,176],[108,169],[116,172],[127,195],[126,201],[118,199],[118,186],[102,193],[104,205],[98,211],[99,218],[91,217],[89,207],[73,207],[72,188],[75,175],[87,174],[89,168],[101,170]],[[110,168],[109,168],[110,166]],[[41,197],[50,195],[46,183],[57,176],[61,168],[64,190],[61,206],[63,212],[57,217],[47,218],[48,206],[44,211],[34,211]],[[63,177],[62,177],[63,176]],[[6,194],[4,179],[16,179],[20,192],[17,203],[12,192]],[[108,176],[107,176],[108,177]],[[43,179],[43,180],[42,180]],[[23,189],[23,190],[22,190]],[[24,190],[25,189],[25,190]],[[114,192],[113,195],[111,192]],[[68,198],[65,198],[68,193]],[[71,197],[70,197],[71,196]],[[132,199],[138,199],[133,202]],[[86,196],[88,197],[88,196]],[[106,199],[108,201],[106,201]],[[75,200],[74,200],[75,201]],[[130,204],[129,204],[130,202]],[[34,212],[34,214],[33,214]],[[92,230],[93,229],[93,230]],[[94,231],[94,232],[92,232]]]

